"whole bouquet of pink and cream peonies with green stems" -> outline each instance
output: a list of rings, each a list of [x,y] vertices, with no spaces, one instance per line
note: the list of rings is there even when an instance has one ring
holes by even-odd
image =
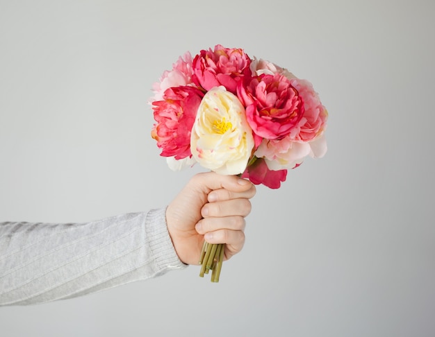
[[[243,49],[186,52],[153,91],[151,137],[174,171],[198,163],[277,189],[288,169],[327,151],[328,113],[311,83]],[[218,282],[223,252],[204,243],[199,275]]]

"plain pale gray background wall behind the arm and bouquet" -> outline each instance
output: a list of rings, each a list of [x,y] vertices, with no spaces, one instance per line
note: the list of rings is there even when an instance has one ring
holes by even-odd
[[[221,281],[199,268],[0,308],[9,336],[434,336],[433,1],[0,1],[0,221],[166,205],[151,85],[241,47],[311,80],[323,159],[258,187]]]

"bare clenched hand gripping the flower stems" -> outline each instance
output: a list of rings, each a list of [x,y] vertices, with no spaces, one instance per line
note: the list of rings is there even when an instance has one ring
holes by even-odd
[[[168,205],[167,228],[183,263],[199,264],[204,239],[226,243],[224,259],[240,252],[245,243],[245,217],[256,188],[234,175],[199,173]]]

